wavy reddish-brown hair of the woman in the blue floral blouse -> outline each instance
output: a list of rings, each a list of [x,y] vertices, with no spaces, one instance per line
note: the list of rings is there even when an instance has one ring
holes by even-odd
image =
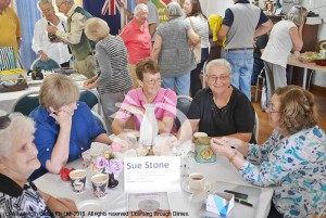
[[[280,128],[289,133],[312,128],[317,124],[317,112],[314,95],[298,86],[278,88],[274,94],[280,98]]]

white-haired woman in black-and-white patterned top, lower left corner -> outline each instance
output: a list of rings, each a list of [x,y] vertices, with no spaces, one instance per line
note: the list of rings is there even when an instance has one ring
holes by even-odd
[[[72,200],[53,197],[27,181],[40,167],[34,132],[33,119],[0,111],[0,217],[57,217],[77,211]]]

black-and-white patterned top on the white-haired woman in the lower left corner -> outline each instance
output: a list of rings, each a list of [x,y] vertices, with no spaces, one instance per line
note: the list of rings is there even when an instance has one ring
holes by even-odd
[[[0,217],[52,218],[55,216],[33,182],[26,182],[22,188],[0,174]]]

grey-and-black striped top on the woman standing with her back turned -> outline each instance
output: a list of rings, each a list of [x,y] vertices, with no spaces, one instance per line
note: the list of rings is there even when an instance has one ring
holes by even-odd
[[[96,46],[97,60],[101,68],[98,79],[99,92],[116,93],[133,87],[128,68],[128,55],[120,36],[102,39]]]

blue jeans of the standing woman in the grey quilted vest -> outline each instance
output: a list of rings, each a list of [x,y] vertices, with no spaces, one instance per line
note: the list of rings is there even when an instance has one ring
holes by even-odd
[[[190,88],[190,72],[177,77],[163,78],[162,87],[165,89],[176,90],[177,95],[188,95]]]

